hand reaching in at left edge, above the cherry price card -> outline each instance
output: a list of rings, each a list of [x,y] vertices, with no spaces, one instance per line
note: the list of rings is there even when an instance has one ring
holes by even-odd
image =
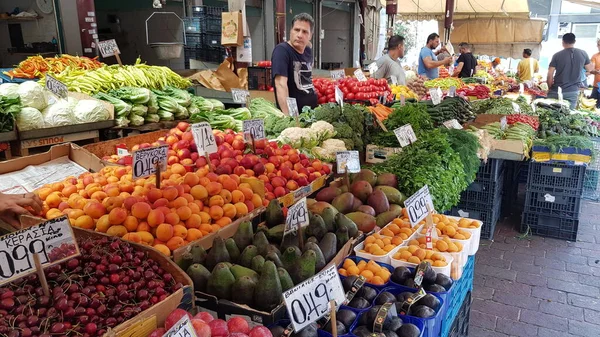
[[[0,220],[14,228],[21,228],[19,218],[24,214],[39,215],[42,212],[42,200],[34,193],[0,193]]]

